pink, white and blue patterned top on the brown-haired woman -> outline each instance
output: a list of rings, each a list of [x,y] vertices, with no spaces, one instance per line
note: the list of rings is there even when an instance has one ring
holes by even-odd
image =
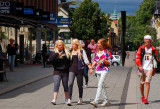
[[[101,64],[98,64],[98,62],[102,59],[106,59],[110,62],[110,64],[107,64],[106,62],[102,62]],[[95,53],[94,62],[96,63],[96,71],[109,71],[109,67],[112,63],[112,53],[111,51],[104,50],[102,54],[99,54],[98,52]]]

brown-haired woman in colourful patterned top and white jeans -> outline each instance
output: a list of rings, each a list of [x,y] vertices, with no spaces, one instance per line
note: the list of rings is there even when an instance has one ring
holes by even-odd
[[[109,67],[112,63],[112,54],[111,54],[112,47],[110,47],[107,44],[107,41],[105,39],[99,39],[97,45],[98,45],[98,51],[95,53],[92,69],[90,70],[90,73],[92,74],[93,68],[94,66],[96,66],[95,73],[97,74],[98,78],[98,88],[94,101],[90,102],[91,105],[95,107],[98,106],[98,100],[101,92],[104,97],[104,102],[101,104],[101,106],[107,106],[110,104],[108,101],[104,81],[106,78],[106,74],[109,71]]]

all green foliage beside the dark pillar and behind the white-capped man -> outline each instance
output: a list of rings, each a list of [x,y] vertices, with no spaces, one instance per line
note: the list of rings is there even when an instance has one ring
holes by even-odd
[[[139,5],[136,16],[127,16],[126,23],[126,43],[132,42],[134,45],[141,45],[145,35],[151,35],[153,45],[158,44],[156,30],[150,26],[152,16],[156,10],[156,0],[143,0]],[[121,20],[119,21],[121,31]]]

